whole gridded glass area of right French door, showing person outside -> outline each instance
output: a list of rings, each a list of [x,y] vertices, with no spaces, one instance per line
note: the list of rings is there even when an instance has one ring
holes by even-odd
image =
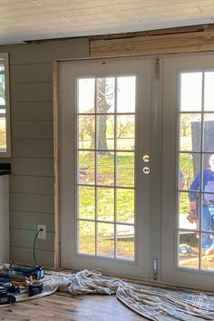
[[[178,111],[178,265],[209,271],[214,270],[213,79],[213,72],[180,73]]]

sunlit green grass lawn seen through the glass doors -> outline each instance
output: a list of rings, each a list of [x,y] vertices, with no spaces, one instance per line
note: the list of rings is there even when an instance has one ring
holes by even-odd
[[[191,151],[190,135],[181,137],[180,143],[184,151]],[[97,231],[97,254],[113,257],[113,223],[116,224],[116,229],[122,222],[130,224],[130,230],[131,224],[134,223],[134,152],[118,151],[114,154],[113,151],[109,151],[106,154],[96,152],[95,155],[95,151],[79,151],[78,164],[79,169],[85,172],[84,176],[80,176],[79,181],[84,184],[79,186],[79,250],[81,253],[95,254]],[[185,177],[184,188],[188,190],[188,178],[190,181],[194,177],[193,158],[190,153],[180,154],[180,170]],[[95,187],[95,176],[99,187]],[[189,209],[188,193],[182,192],[180,193],[180,214],[189,212]],[[87,219],[93,221],[90,222]],[[96,219],[97,223],[95,223]],[[101,220],[103,222],[99,222]],[[116,253],[117,258],[133,259],[133,238],[122,239],[118,234]]]

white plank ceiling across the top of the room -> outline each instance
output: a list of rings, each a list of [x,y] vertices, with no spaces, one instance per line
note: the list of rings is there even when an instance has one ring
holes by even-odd
[[[214,0],[0,0],[0,44],[213,23]]]

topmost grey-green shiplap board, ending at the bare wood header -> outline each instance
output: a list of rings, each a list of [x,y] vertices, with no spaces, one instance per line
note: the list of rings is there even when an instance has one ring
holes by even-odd
[[[78,38],[40,44],[16,44],[0,47],[1,53],[10,53],[10,63],[50,63],[56,59],[82,58],[89,56],[89,39]]]

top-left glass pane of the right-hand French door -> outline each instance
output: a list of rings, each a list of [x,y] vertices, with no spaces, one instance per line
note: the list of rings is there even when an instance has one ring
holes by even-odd
[[[202,73],[180,73],[180,112],[202,108]]]

